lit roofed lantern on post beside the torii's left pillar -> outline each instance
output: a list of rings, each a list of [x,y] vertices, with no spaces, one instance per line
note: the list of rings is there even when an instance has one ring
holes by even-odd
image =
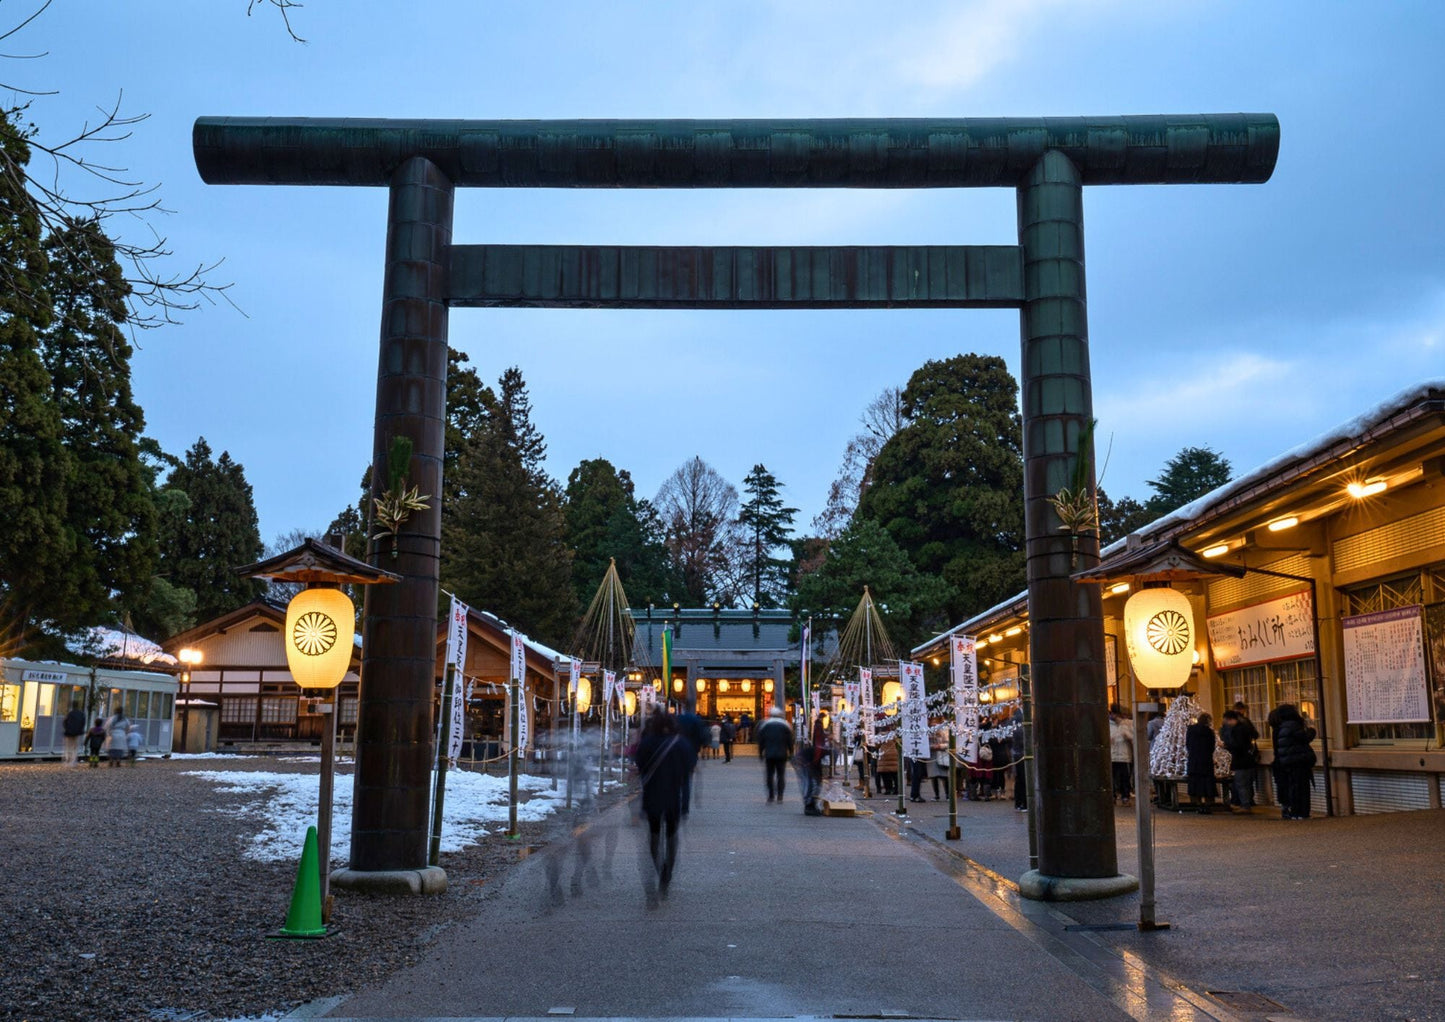
[[[302,590],[286,604],[286,666],[298,688],[327,691],[322,704],[321,792],[316,804],[316,867],[321,873],[321,918],[331,918],[331,789],[335,775],[337,700],[355,656],[355,607],[341,585],[397,583],[400,575],[373,568],[315,539],[285,554],[247,564],[236,574],[299,584]],[[321,934],[324,935],[324,934]]]

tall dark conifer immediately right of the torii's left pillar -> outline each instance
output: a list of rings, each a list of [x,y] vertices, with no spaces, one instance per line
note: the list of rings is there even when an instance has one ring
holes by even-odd
[[[471,370],[462,370],[471,373]],[[532,425],[516,367],[497,392],[478,387],[483,413],[461,448],[442,503],[442,587],[535,639],[561,645],[577,616],[562,494],[542,468],[546,444]]]

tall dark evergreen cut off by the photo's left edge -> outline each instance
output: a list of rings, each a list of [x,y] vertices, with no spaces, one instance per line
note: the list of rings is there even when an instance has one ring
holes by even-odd
[[[13,111],[0,117],[7,166],[29,163]],[[36,328],[49,324],[40,218],[23,175],[0,175],[0,597],[7,622],[32,633],[64,609],[51,598],[74,541],[65,520],[69,454]]]

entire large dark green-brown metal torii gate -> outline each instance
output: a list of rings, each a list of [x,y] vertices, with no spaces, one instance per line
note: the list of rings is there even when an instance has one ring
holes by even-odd
[[[442,491],[451,306],[1017,308],[1022,334],[1029,658],[1039,896],[1131,889],[1118,875],[1098,562],[1048,497],[1074,477],[1092,419],[1084,186],[1260,184],[1273,114],[867,120],[351,120],[202,117],[208,184],[390,189],[373,487],[392,437]],[[618,247],[452,244],[475,188],[1014,188],[1016,246]],[[1087,434],[1084,434],[1087,437]],[[1085,442],[1088,442],[1085,439]],[[1092,493],[1092,451],[1088,487]],[[351,870],[335,882],[445,885],[426,872],[441,509],[415,515],[367,593]],[[376,554],[373,554],[373,561]],[[1056,882],[1065,882],[1059,885]]]

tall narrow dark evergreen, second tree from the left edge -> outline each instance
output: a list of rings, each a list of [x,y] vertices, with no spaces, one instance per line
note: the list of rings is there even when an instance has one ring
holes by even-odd
[[[91,220],[48,239],[46,250],[55,318],[40,332],[40,350],[69,451],[64,544],[71,555],[52,594],[65,609],[56,620],[81,627],[117,620],[114,594],[127,609],[146,606],[156,506],[121,330],[130,286],[114,247]]]

